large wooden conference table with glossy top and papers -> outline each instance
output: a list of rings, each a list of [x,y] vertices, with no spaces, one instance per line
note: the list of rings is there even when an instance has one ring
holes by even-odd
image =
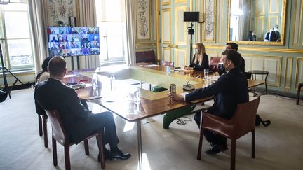
[[[165,66],[136,64],[121,71],[116,71],[114,73],[116,80],[109,78],[111,74],[108,71],[101,70],[74,71],[67,75],[63,82],[79,83],[82,81],[87,83],[86,87],[76,89],[79,98],[99,104],[124,120],[137,122],[139,169],[142,168],[141,120],[185,106],[210,101],[214,98],[206,97],[191,102],[170,101],[166,95],[168,91],[151,92],[140,88],[140,101],[133,100],[133,92],[137,90],[137,87],[130,85],[129,80],[137,80],[137,82],[150,83],[166,88],[169,87],[170,83],[174,83],[177,87],[177,94],[180,94],[183,93],[182,85],[197,75],[203,76],[203,72],[184,73],[176,71],[168,75]],[[248,87],[251,88],[264,83],[263,80],[248,80]],[[203,80],[197,78],[191,80],[191,84],[200,88],[203,87]],[[101,96],[102,98],[90,99],[93,96]]]

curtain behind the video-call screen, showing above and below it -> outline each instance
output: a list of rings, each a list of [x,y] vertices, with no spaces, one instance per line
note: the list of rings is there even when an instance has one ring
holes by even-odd
[[[79,24],[77,27],[96,27],[95,0],[79,0]],[[78,69],[91,69],[100,66],[99,55],[79,56]]]

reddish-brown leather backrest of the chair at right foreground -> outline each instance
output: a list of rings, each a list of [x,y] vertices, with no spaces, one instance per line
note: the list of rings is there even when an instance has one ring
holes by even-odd
[[[231,122],[234,122],[234,135],[236,139],[247,134],[251,130],[255,129],[255,116],[257,108],[259,106],[260,97],[248,101],[243,104],[238,104],[236,113]]]

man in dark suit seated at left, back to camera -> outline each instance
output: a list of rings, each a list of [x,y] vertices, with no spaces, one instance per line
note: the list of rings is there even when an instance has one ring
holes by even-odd
[[[104,154],[109,159],[126,160],[129,153],[122,153],[118,148],[119,139],[111,112],[91,114],[84,107],[74,89],[62,83],[67,71],[63,57],[53,57],[48,63],[50,78],[36,85],[34,99],[43,109],[57,109],[69,140],[74,143],[83,141],[95,131],[103,134],[103,144],[109,143],[110,152],[103,146]],[[102,146],[99,146],[102,147]],[[100,155],[98,156],[100,160]]]

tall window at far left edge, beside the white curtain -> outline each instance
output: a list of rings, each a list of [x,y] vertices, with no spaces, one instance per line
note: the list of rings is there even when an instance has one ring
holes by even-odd
[[[0,6],[0,42],[8,69],[34,67],[27,0]]]

